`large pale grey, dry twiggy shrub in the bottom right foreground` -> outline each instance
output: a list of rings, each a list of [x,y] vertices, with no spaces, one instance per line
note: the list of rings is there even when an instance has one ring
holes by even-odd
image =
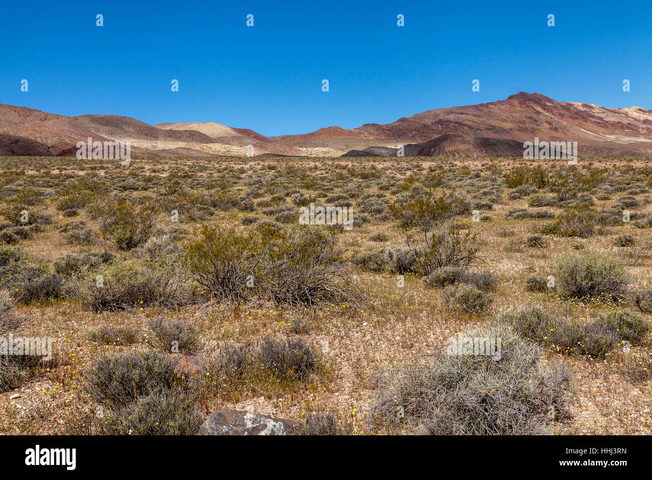
[[[499,359],[442,352],[428,364],[384,372],[371,409],[372,425],[440,435],[523,435],[542,434],[553,419],[569,416],[565,365],[544,366],[537,345],[505,325],[467,336],[499,338]]]

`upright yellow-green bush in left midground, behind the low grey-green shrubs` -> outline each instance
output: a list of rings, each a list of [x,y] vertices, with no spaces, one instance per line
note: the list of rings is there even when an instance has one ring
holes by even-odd
[[[115,248],[130,250],[143,244],[156,225],[159,205],[146,198],[102,199],[89,207],[104,238]]]

